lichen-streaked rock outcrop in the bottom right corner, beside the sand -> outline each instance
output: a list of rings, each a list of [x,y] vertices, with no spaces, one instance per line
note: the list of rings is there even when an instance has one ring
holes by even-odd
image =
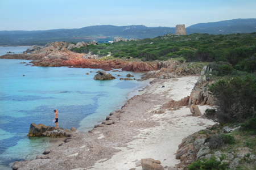
[[[233,131],[239,128],[240,127],[237,126],[233,129],[230,129],[232,129],[231,131]],[[237,165],[238,162],[245,157],[245,154],[239,152],[231,152],[230,154],[212,150],[207,140],[211,138],[214,134],[216,134],[218,130],[220,130],[222,133],[226,133],[225,129],[227,129],[226,126],[224,128],[221,128],[220,125],[215,124],[212,127],[200,130],[192,135],[189,135],[188,137],[183,138],[181,144],[179,145],[179,149],[176,152],[176,159],[180,159],[180,163],[176,164],[177,168],[180,168],[181,166],[186,167],[188,164],[191,164],[198,159],[201,161],[203,161],[203,159],[210,159],[213,155],[216,157],[217,161],[220,161],[220,157],[222,155],[225,155],[225,159],[222,160],[222,163],[229,163],[229,167],[231,169],[234,169],[234,166]],[[249,150],[246,150],[245,153],[251,154]]]

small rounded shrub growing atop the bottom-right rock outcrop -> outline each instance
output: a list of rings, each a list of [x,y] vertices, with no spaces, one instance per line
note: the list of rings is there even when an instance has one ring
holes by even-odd
[[[217,135],[212,135],[209,139],[209,147],[216,149],[220,148],[222,146],[225,146],[226,144],[232,145],[236,141],[233,136],[228,135],[228,134],[217,134]]]

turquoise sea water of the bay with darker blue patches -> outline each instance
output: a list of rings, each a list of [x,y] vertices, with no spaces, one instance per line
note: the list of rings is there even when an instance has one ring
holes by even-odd
[[[33,122],[55,126],[52,122],[55,108],[59,111],[61,128],[73,126],[88,131],[119,109],[131,92],[148,84],[119,77],[93,80],[99,69],[31,67],[19,62],[29,61],[0,59],[0,169],[11,169],[16,160],[35,159],[53,146],[50,138],[26,135]],[[121,77],[130,73],[107,72]],[[130,74],[134,78],[142,75]]]

